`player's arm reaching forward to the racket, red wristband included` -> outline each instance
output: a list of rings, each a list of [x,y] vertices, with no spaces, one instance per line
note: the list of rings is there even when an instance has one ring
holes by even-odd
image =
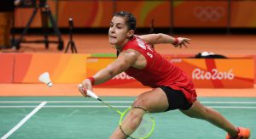
[[[128,69],[131,65],[135,64],[138,58],[138,53],[134,50],[126,50],[119,54],[119,57],[104,69],[101,69],[90,78],[82,82],[83,88],[92,90],[92,85],[98,85],[105,81],[110,80],[113,76]],[[80,92],[84,92],[80,90]],[[86,96],[86,95],[85,95]]]

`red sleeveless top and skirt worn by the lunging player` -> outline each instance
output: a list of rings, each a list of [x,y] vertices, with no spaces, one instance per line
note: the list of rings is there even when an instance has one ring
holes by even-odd
[[[130,67],[125,71],[127,75],[134,77],[144,86],[156,88],[169,86],[174,90],[181,90],[189,103],[196,100],[195,87],[188,75],[177,65],[163,58],[148,43],[143,42],[138,36],[134,36],[125,44],[123,50],[133,49],[143,54],[147,65],[143,69]]]

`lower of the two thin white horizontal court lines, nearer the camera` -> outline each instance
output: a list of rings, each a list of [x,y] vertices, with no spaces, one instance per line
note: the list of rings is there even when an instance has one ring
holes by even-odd
[[[0,106],[0,108],[34,108],[35,106]],[[113,106],[114,108],[128,108],[131,106]],[[254,109],[253,106],[207,106],[210,108],[238,108],[238,109]],[[44,108],[108,108],[105,105],[51,105]]]

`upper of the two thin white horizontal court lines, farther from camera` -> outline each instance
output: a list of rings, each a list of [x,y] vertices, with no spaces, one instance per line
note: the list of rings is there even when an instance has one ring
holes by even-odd
[[[42,101],[0,101],[0,103],[41,103]],[[99,101],[47,101],[48,103],[102,103]],[[104,101],[106,103],[133,103],[133,101]],[[256,103],[256,102],[211,102],[201,103]]]

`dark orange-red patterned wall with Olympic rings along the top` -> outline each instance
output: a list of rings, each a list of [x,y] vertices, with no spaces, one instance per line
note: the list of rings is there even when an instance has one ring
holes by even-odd
[[[75,27],[84,29],[79,31],[91,33],[93,28],[106,32],[113,14],[120,10],[137,17],[138,30],[150,27],[154,19],[156,31],[161,32],[256,31],[255,0],[48,0],[47,3],[62,31],[68,27],[68,18],[73,17]],[[33,9],[15,8],[16,29],[26,26]],[[41,26],[40,18],[37,14],[32,28]]]

